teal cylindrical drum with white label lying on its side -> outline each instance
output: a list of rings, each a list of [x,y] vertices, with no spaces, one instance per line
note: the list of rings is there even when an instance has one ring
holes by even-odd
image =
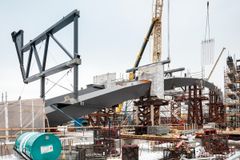
[[[56,160],[62,147],[59,138],[52,133],[26,132],[16,139],[15,149],[33,160]]]

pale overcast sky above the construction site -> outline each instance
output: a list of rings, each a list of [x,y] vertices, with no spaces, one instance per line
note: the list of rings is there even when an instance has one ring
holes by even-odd
[[[170,0],[170,68],[185,67],[186,71],[198,72],[200,66],[200,43],[204,38],[206,0]],[[167,4],[167,1],[164,0]],[[152,17],[152,0],[7,0],[0,4],[0,46],[1,83],[0,91],[8,92],[9,99],[36,98],[40,95],[39,82],[25,85],[17,54],[11,39],[11,32],[24,30],[26,44],[49,26],[74,9],[80,10],[79,66],[81,87],[92,83],[92,77],[108,72],[124,73],[133,66]],[[163,59],[167,57],[167,8],[163,15]],[[220,60],[210,81],[223,88],[223,69],[228,54],[239,57],[240,50],[240,1],[210,0],[211,37],[215,39],[215,59],[222,47],[227,51]],[[72,51],[72,26],[61,31],[56,37]],[[41,52],[43,46],[37,48]],[[59,63],[66,56],[50,42],[49,66]],[[144,53],[143,62],[150,62],[151,48]],[[48,67],[49,67],[48,66]],[[209,73],[212,66],[207,67]],[[33,66],[32,71],[36,69]],[[61,77],[63,73],[60,73]],[[56,81],[58,77],[52,77]],[[68,75],[61,83],[71,89],[72,80]],[[51,83],[47,83],[51,87]],[[23,92],[22,92],[23,90]],[[47,97],[66,93],[55,88]]]

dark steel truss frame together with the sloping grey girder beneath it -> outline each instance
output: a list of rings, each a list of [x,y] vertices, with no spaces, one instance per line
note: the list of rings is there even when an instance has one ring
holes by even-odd
[[[129,99],[147,96],[150,92],[149,81],[135,81],[105,88],[101,85],[89,85],[86,89],[78,90],[78,65],[81,59],[78,54],[78,18],[79,11],[74,10],[60,21],[48,28],[42,34],[24,45],[24,32],[12,32],[24,83],[41,79],[41,98],[45,99],[45,78],[63,70],[74,68],[74,89],[68,93],[45,101],[46,114],[51,126],[66,123],[80,116],[90,114],[104,107],[111,107]],[[69,52],[54,36],[55,33],[73,23],[73,53]],[[47,69],[49,40],[52,39],[69,57],[69,61]],[[40,59],[36,46],[45,42],[43,59]],[[35,57],[38,73],[30,76],[32,57]],[[24,62],[27,62],[25,65]]]

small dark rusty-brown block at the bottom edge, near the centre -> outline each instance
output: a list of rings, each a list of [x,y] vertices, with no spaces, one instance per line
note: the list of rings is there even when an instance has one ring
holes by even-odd
[[[138,160],[138,150],[137,145],[124,145],[122,147],[122,160]]]

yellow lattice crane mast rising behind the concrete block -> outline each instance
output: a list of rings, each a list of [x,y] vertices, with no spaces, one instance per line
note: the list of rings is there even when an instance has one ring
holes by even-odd
[[[162,55],[162,11],[163,0],[156,0],[153,13],[153,21],[156,20],[153,29],[153,63],[159,62]]]

